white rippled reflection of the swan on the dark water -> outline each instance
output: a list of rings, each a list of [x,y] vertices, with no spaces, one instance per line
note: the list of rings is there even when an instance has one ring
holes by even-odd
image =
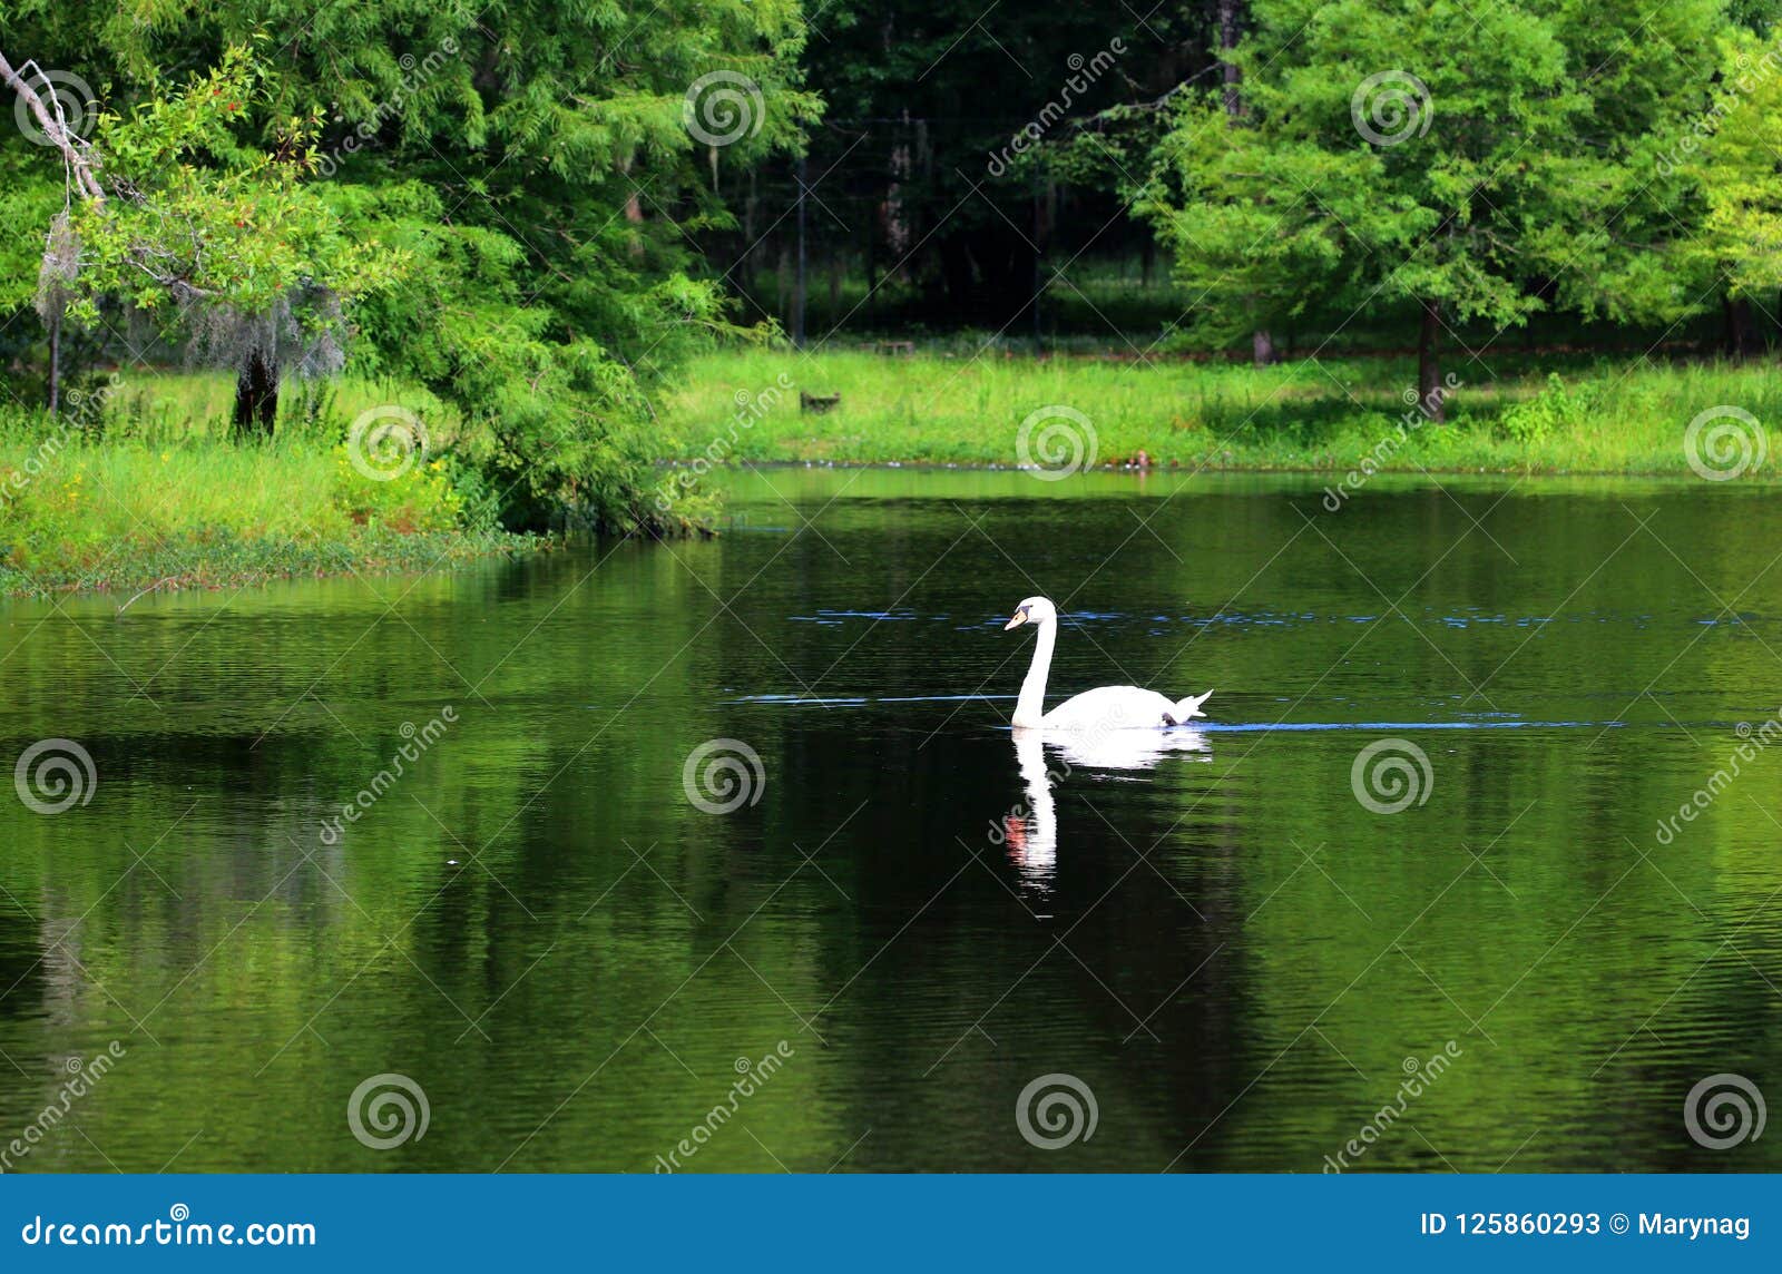
[[[1009,861],[1035,891],[1050,893],[1059,870],[1059,809],[1051,795],[1055,779],[1073,770],[1151,770],[1173,752],[1212,761],[1212,745],[1201,731],[1035,731],[1018,729],[1014,759],[1026,788],[1026,807],[1003,818]],[[1046,747],[1053,748],[1048,764]]]

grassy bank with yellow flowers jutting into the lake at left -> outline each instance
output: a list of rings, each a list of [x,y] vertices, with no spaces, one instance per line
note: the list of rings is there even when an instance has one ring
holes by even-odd
[[[353,410],[390,397],[351,390]],[[0,593],[426,570],[529,543],[495,529],[481,479],[442,445],[355,461],[347,408],[298,396],[274,440],[242,445],[226,404],[219,378],[155,376],[102,410],[0,415]]]

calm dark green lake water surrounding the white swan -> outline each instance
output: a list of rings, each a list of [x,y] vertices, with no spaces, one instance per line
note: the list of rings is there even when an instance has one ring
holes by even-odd
[[[732,486],[706,543],[0,609],[5,764],[91,757],[0,802],[7,1167],[1782,1169],[1686,1123],[1782,1098],[1773,494]],[[1018,745],[1030,593],[1053,702],[1205,729]]]

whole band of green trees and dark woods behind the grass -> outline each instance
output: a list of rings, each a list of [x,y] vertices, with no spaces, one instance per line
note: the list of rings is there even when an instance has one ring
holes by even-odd
[[[1153,337],[1417,331],[1440,415],[1452,331],[1775,330],[1777,9],[4,0],[68,130],[21,94],[0,139],[0,365],[52,410],[223,369],[239,438],[294,380],[412,387],[508,526],[659,533],[700,517],[647,495],[665,378],[802,335],[798,262],[838,323],[1039,335],[1066,289],[1117,326],[1071,265],[1160,244]]]

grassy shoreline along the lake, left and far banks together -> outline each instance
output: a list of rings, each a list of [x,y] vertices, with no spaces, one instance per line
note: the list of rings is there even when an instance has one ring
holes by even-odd
[[[1276,476],[1342,502],[1367,481],[1709,483],[1770,492],[1768,421],[1782,380],[1762,362],[1600,362],[1565,374],[1513,362],[1451,376],[1429,421],[1415,365],[1365,358],[1269,367],[1103,358],[716,349],[658,403],[654,472],[716,531],[727,474],[752,469],[1064,478]],[[273,581],[424,574],[549,547],[495,529],[481,479],[449,454],[396,474],[355,465],[331,429],[296,419],[269,447],[217,445],[198,390],[148,387],[153,428],[45,451],[0,435],[0,599],[216,592]],[[226,387],[223,387],[226,388]],[[1410,397],[1406,397],[1410,396]],[[155,412],[173,412],[159,417]],[[135,417],[130,417],[135,421]],[[132,437],[141,431],[143,437]],[[146,437],[153,435],[153,437]],[[1782,458],[1782,440],[1777,447]],[[699,479],[706,479],[700,483]],[[1041,483],[1041,479],[1044,479]]]

